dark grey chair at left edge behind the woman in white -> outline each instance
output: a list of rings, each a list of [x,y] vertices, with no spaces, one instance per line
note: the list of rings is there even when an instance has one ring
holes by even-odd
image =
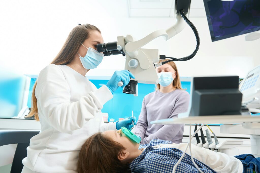
[[[0,147],[3,145],[17,144],[10,173],[19,173],[23,169],[22,159],[27,156],[26,148],[31,137],[40,130],[0,130]]]

